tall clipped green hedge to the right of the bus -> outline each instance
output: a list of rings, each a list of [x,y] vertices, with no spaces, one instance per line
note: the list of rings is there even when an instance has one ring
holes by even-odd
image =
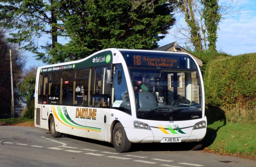
[[[209,61],[205,67],[206,103],[213,106],[256,106],[256,53]]]

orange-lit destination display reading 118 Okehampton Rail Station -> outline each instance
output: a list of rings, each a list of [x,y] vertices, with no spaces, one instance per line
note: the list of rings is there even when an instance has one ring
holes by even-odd
[[[164,56],[133,55],[133,66],[180,68],[180,59]]]

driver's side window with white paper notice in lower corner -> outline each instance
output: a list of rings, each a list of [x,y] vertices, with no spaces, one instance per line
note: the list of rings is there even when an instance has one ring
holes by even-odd
[[[124,69],[122,65],[121,64],[115,65],[114,86],[113,86],[114,100],[112,101],[111,106],[113,108],[119,109],[121,111],[124,111],[127,114],[132,115],[127,83],[125,78],[126,77],[124,75]]]

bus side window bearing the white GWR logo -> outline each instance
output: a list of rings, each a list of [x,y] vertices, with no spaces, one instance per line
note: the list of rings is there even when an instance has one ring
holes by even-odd
[[[89,69],[76,70],[74,80],[74,101],[73,105],[88,107],[88,81]]]

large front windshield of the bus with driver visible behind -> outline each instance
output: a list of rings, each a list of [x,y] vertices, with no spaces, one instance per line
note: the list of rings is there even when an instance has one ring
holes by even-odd
[[[196,70],[130,67],[129,73],[138,118],[188,120],[183,113],[202,113],[201,86]],[[183,116],[175,117],[180,115],[178,113]]]

